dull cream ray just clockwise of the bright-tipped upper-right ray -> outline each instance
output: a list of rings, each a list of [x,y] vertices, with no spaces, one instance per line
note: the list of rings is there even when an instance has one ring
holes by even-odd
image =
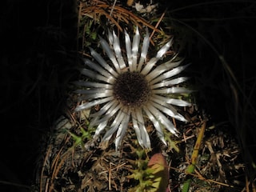
[[[168,62],[162,63],[161,65],[157,66],[154,70],[150,72],[150,74],[146,75],[146,80],[149,82],[152,81],[154,78],[158,77],[160,74],[167,70],[171,70],[176,66],[179,66],[182,63],[183,59],[178,62],[173,62],[173,59],[170,59]]]

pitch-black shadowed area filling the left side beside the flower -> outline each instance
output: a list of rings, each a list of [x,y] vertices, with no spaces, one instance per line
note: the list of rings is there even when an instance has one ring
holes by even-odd
[[[1,2],[0,181],[34,184],[76,66],[75,1]],[[41,162],[42,163],[42,162]],[[0,182],[0,191],[27,191]]]

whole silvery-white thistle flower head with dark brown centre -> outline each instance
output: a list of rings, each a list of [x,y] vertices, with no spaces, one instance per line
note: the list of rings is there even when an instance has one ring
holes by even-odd
[[[109,43],[100,38],[100,44],[111,63],[106,62],[100,54],[90,48],[90,53],[97,62],[84,59],[86,68],[82,69],[81,73],[90,80],[76,82],[76,85],[85,87],[76,92],[82,94],[86,102],[75,110],[86,110],[102,104],[98,112],[90,114],[90,126],[97,126],[94,138],[98,138],[106,126],[110,127],[102,142],[108,142],[116,133],[116,150],[121,145],[130,121],[139,145],[150,148],[150,138],[144,121],[146,116],[153,123],[158,137],[166,144],[162,129],[166,128],[172,134],[178,134],[168,116],[186,122],[174,106],[190,106],[190,102],[170,98],[170,94],[191,92],[184,87],[175,86],[185,82],[186,77],[174,78],[188,65],[179,66],[182,61],[174,62],[174,59],[157,64],[172,46],[172,40],[162,46],[156,56],[148,61],[146,56],[150,37],[147,31],[138,57],[141,38],[138,27],[132,42],[125,31],[126,55],[122,54],[119,38],[114,31],[109,31],[108,38]]]

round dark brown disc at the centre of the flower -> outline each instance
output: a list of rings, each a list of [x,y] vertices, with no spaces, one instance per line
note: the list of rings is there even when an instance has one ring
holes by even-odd
[[[138,72],[120,74],[114,82],[114,98],[123,106],[139,107],[150,96],[150,86],[144,75]]]

